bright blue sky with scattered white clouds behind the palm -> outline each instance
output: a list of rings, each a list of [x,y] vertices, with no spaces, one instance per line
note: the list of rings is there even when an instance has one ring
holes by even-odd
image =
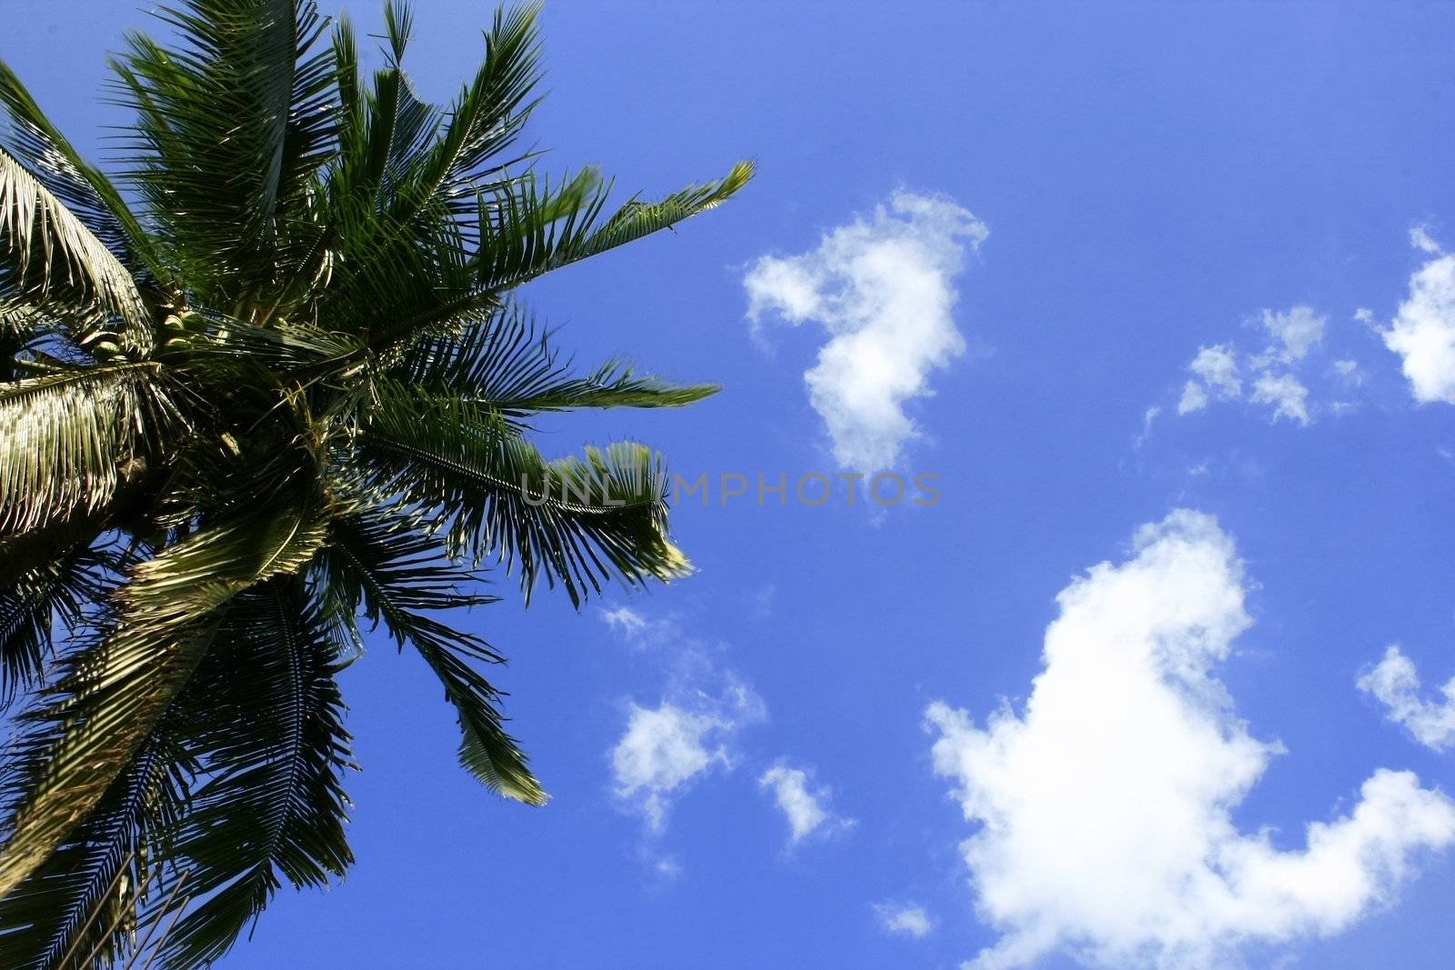
[[[146,17],[29,6],[0,57],[105,157],[102,54]],[[489,12],[418,4],[426,95]],[[463,618],[544,810],[458,769],[380,643],[359,861],[224,966],[1448,966],[1455,10],[557,0],[543,32],[547,167],[760,163],[530,294],[583,362],[725,385],[544,428],[707,474],[700,572]],[[792,496],[879,467],[938,500]]]

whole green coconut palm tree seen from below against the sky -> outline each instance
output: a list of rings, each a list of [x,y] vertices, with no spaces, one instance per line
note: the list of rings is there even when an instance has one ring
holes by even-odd
[[[378,625],[438,675],[464,766],[543,804],[501,654],[441,611],[490,602],[487,566],[578,606],[688,569],[656,452],[547,461],[531,420],[716,388],[576,374],[511,291],[751,166],[610,214],[597,172],[538,176],[533,9],[447,108],[400,67],[402,4],[368,80],[311,0],[160,16],[173,48],[112,61],[115,183],[0,65],[0,969],[205,964],[282,883],[340,875],[336,675]]]

